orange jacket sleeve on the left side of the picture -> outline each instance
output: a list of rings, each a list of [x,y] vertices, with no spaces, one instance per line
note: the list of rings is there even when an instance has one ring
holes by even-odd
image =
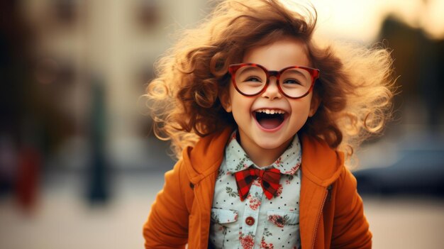
[[[165,185],[151,206],[143,226],[145,248],[185,248],[188,239],[189,212],[182,193],[186,179],[182,160],[165,173]]]

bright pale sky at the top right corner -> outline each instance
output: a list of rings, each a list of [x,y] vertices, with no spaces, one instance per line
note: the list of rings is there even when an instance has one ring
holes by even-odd
[[[292,0],[288,0],[292,1]],[[311,0],[318,11],[318,33],[368,43],[377,38],[389,14],[435,39],[444,38],[444,0]]]

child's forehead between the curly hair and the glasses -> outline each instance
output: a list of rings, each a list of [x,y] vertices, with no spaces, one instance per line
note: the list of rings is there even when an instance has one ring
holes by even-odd
[[[311,66],[305,43],[288,37],[246,50],[242,62],[257,63],[268,70],[281,70],[294,65]]]

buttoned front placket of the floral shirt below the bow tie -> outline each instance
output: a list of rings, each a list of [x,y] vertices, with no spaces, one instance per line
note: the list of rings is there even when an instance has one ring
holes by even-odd
[[[243,226],[242,226],[242,233],[245,236],[248,236],[248,234],[251,234],[253,237],[253,241],[256,241],[256,231],[257,231],[257,224],[259,223],[259,213],[260,213],[260,206],[261,203],[255,207],[255,204],[257,204],[256,201],[262,201],[262,196],[264,195],[264,191],[262,187],[258,187],[255,185],[255,182],[250,187],[249,196],[247,199],[245,199],[245,209],[243,211],[243,216],[245,217],[243,219]],[[257,194],[256,194],[257,193]],[[242,248],[240,246],[239,248]],[[254,248],[260,248],[260,244],[256,245]]]

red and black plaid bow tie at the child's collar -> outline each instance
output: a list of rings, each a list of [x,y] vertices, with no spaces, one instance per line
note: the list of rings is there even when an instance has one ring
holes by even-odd
[[[281,184],[279,184],[281,172],[276,168],[259,170],[250,167],[247,170],[235,172],[234,176],[236,183],[238,184],[238,192],[241,201],[248,197],[252,181],[257,177],[261,179],[262,189],[264,189],[265,196],[268,199],[272,199],[276,194],[277,189],[281,186]]]

